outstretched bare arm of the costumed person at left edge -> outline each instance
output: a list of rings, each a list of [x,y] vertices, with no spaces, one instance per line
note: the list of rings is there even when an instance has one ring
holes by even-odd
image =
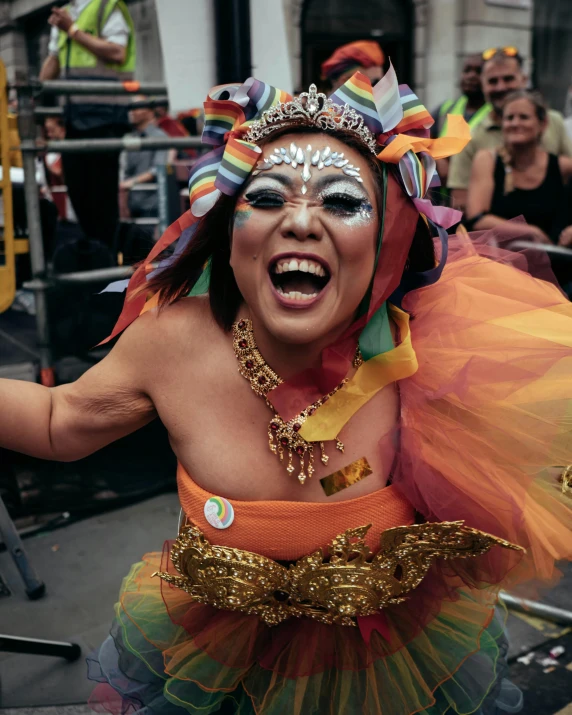
[[[156,416],[146,391],[153,319],[136,320],[104,360],[69,385],[0,380],[0,446],[72,461],[150,422]]]

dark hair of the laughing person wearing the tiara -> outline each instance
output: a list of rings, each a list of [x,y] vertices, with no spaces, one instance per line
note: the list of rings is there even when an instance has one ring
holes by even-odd
[[[277,130],[269,138],[259,142],[263,146],[285,134],[322,134],[321,129],[294,125]],[[356,149],[366,159],[376,183],[376,200],[381,214],[383,204],[383,169],[379,160],[366,149],[354,134],[346,131],[328,132],[348,146]],[[209,302],[217,323],[230,330],[243,301],[230,266],[230,229],[238,196],[218,199],[215,206],[200,220],[192,241],[170,266],[163,269],[145,286],[145,291],[159,293],[160,308],[185,297],[192,290],[201,271],[210,264]],[[407,258],[406,268],[425,271],[435,266],[433,239],[425,222],[419,218]]]

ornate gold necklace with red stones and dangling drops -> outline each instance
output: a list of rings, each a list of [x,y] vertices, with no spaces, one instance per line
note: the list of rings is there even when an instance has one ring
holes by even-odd
[[[331,392],[319,400],[316,400],[311,405],[306,407],[302,412],[293,417],[288,422],[285,422],[282,417],[276,412],[274,406],[268,399],[268,393],[278,385],[281,385],[283,380],[262,357],[254,339],[252,330],[252,322],[246,318],[237,321],[232,326],[232,345],[234,353],[238,360],[238,371],[246,378],[250,387],[259,396],[264,398],[268,407],[274,412],[274,417],[268,425],[268,446],[270,450],[278,455],[280,461],[284,461],[284,455],[288,455],[288,464],[286,471],[292,474],[295,467],[293,465],[294,454],[300,461],[300,473],[298,479],[300,484],[304,484],[308,477],[314,473],[314,448],[319,446],[320,460],[322,464],[327,464],[329,457],[323,442],[307,442],[301,435],[300,429],[304,422],[313,415],[314,412],[327,402],[330,397],[336,394],[347,382],[347,379],[342,382]],[[356,351],[354,358],[354,367],[359,367],[363,363],[359,349]],[[340,440],[336,440],[336,449],[340,452],[344,451],[344,445]],[[306,466],[307,461],[307,466]]]

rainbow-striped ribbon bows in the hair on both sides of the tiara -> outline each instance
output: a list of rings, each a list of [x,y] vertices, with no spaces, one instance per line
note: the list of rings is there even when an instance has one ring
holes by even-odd
[[[180,253],[192,240],[198,219],[210,211],[221,194],[235,195],[252,173],[262,150],[242,139],[250,124],[266,110],[291,99],[287,92],[254,77],[244,84],[223,84],[211,91],[204,103],[203,142],[213,149],[191,171],[191,208],[167,229],[132,276],[123,311],[107,340],[143,310],[146,302],[143,288],[151,262],[179,238],[177,253]],[[470,140],[469,127],[461,116],[449,115],[447,134],[431,139],[431,115],[407,85],[398,84],[392,65],[375,87],[368,77],[356,72],[330,99],[336,104],[348,104],[361,114],[378,144],[383,146],[378,159],[395,165],[397,179],[421,214],[442,228],[460,220],[458,211],[435,207],[423,197],[429,187],[438,185],[436,159],[459,152]]]

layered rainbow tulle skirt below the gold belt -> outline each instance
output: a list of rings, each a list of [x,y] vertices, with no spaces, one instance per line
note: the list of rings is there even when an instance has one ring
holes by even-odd
[[[456,589],[423,627],[387,609],[386,628],[257,617],[194,603],[151,575],[145,556],[125,579],[110,637],[89,659],[91,707],[114,715],[257,713],[411,715],[518,712],[505,680],[507,643],[490,590]]]

